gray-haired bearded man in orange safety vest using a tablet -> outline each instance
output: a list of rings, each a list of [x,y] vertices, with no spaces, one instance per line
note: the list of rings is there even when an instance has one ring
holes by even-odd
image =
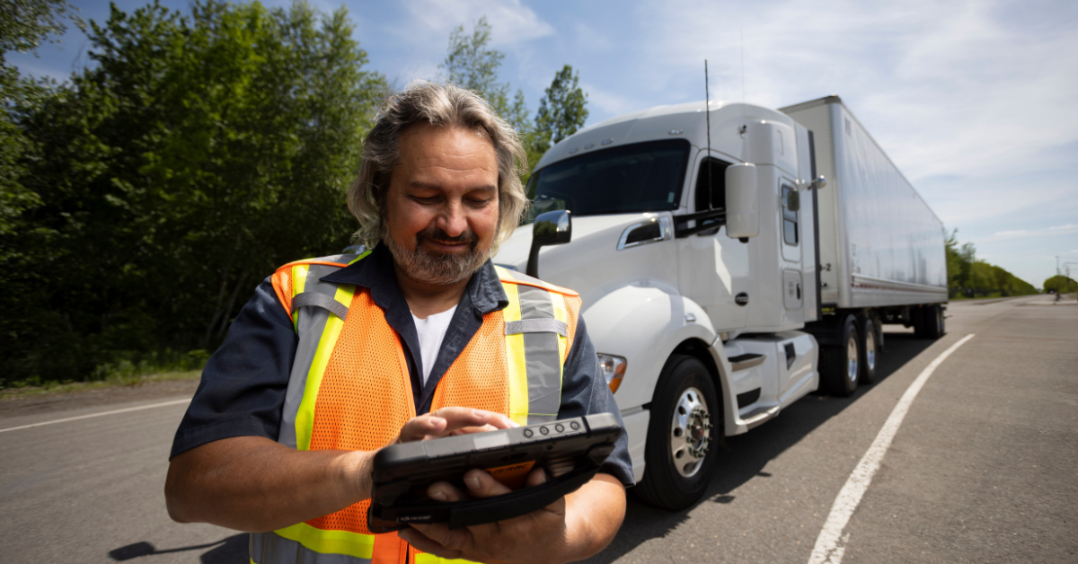
[[[579,297],[488,260],[526,207],[519,162],[516,134],[468,91],[421,83],[390,98],[349,191],[373,251],[292,263],[259,287],[177,430],[172,519],[254,533],[258,564],[569,562],[609,544],[633,480],[624,437],[600,473],[542,510],[367,529],[382,446],[618,414]],[[565,334],[507,329],[536,317]],[[525,486],[544,479],[533,471]],[[508,492],[481,470],[465,481],[472,497]],[[465,497],[446,483],[428,493]]]

